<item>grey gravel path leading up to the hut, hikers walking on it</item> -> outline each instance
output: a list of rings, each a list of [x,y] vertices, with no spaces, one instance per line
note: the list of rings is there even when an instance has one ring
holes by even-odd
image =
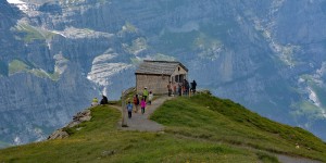
[[[145,114],[141,114],[140,106],[138,109],[138,113],[133,112],[131,118],[128,118],[128,115],[125,115],[125,121],[128,127],[121,127],[121,123],[118,122],[118,127],[123,130],[139,130],[139,131],[162,131],[164,130],[164,126],[158,124],[149,120],[149,116],[166,100],[172,99],[173,97],[161,97],[154,101],[152,101],[151,105],[147,105],[145,109]],[[114,106],[117,108],[117,106]],[[117,108],[121,111],[121,108]],[[128,114],[125,112],[125,114]]]

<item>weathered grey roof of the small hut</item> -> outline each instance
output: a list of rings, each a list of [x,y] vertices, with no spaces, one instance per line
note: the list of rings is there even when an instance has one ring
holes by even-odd
[[[177,61],[149,61],[145,60],[138,67],[135,74],[158,74],[172,75],[174,71],[181,66],[186,72],[188,68]]]

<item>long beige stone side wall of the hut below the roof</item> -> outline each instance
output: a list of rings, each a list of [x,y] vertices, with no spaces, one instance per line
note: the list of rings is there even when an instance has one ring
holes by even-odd
[[[152,91],[154,95],[167,93],[167,84],[170,76],[165,75],[136,75],[137,93],[142,95],[143,88]]]

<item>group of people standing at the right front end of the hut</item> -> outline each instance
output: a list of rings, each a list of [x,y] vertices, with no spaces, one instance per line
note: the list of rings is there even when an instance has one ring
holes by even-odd
[[[184,79],[183,83],[175,83],[172,84],[172,82],[167,85],[167,95],[171,97],[172,95],[189,95],[189,91],[191,93],[196,93],[196,87],[197,83],[196,80],[192,80],[192,83],[188,83],[187,79]]]

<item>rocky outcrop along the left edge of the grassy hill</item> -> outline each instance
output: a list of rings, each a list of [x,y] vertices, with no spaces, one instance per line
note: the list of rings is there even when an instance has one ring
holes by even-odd
[[[48,140],[51,139],[64,139],[67,138],[70,135],[66,131],[67,128],[73,128],[77,125],[79,125],[83,122],[86,121],[90,121],[91,118],[91,112],[90,110],[85,110],[83,112],[78,112],[74,117],[73,121],[71,123],[68,123],[65,127],[60,128],[58,130],[55,130],[54,133],[52,133],[49,137]],[[80,130],[82,128],[77,128],[77,130]]]

